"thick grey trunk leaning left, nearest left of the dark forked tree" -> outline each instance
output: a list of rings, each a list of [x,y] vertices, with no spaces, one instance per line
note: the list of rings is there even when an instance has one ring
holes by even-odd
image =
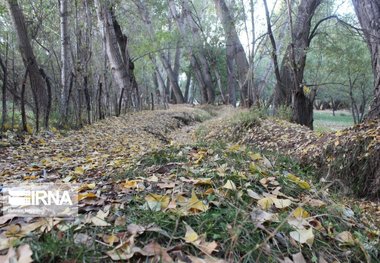
[[[249,72],[249,63],[247,56],[237,34],[235,21],[230,14],[230,10],[228,9],[226,2],[224,0],[214,0],[214,3],[218,11],[218,15],[222,21],[222,25],[228,39],[227,42],[232,46],[232,54],[230,54],[230,56],[232,56],[237,67],[236,73],[239,80],[242,106],[249,107],[252,104],[252,100],[248,95],[247,74]],[[228,76],[228,78],[230,78],[230,76]]]

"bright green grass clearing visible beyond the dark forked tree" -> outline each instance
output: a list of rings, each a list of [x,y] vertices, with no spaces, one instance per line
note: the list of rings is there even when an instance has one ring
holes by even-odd
[[[314,129],[317,132],[338,131],[354,125],[351,113],[337,111],[333,116],[332,111],[314,111]]]

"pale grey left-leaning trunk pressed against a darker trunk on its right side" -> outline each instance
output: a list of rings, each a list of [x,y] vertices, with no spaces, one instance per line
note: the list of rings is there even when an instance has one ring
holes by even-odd
[[[119,87],[120,94],[123,94],[124,91],[126,91],[128,94],[131,94],[131,76],[129,74],[128,65],[124,63],[123,55],[119,49],[118,39],[116,37],[112,20],[112,14],[109,9],[110,5],[108,1],[101,0],[96,0],[95,3],[99,21],[103,27],[105,34],[105,45],[108,61],[112,69],[112,76]],[[120,105],[120,103],[117,105]],[[118,109],[116,112],[120,113],[120,109]]]

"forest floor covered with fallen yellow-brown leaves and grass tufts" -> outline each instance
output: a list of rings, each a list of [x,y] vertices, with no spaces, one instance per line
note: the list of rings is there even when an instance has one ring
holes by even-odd
[[[172,106],[9,133],[0,181],[80,184],[79,216],[3,215],[0,262],[379,262],[380,206],[288,157],[319,135],[260,117]]]

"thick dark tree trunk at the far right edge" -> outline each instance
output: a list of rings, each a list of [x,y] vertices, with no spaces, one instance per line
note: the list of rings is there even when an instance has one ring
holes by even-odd
[[[371,52],[374,75],[374,100],[366,118],[380,118],[380,2],[373,0],[352,0],[367,45]]]

